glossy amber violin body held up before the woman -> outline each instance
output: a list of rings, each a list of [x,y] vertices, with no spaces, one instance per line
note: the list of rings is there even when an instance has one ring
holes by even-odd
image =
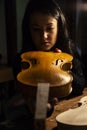
[[[70,94],[73,81],[70,73],[73,57],[70,54],[33,51],[23,53],[21,58],[21,63],[27,67],[22,68],[17,79],[23,85],[21,88],[32,90],[31,96],[35,95],[38,83],[49,83],[51,96]]]

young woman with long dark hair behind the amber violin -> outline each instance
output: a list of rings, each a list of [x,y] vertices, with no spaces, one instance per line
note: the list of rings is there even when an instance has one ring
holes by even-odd
[[[73,91],[79,95],[85,86],[82,64],[75,44],[69,38],[66,19],[56,0],[29,0],[23,24],[23,44],[17,55],[15,75],[21,70],[20,55],[26,51],[56,51],[73,55]]]

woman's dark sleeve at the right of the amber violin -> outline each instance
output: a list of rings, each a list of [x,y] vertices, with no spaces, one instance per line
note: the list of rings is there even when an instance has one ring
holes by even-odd
[[[78,59],[73,60],[73,94],[80,95],[83,92],[84,87],[86,87],[85,76],[83,74],[83,64]]]

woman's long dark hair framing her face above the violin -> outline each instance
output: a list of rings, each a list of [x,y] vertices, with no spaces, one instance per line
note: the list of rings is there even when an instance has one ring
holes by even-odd
[[[30,16],[35,12],[48,14],[57,19],[59,32],[55,47],[61,49],[63,52],[74,55],[75,46],[69,38],[65,16],[56,0],[29,0],[22,23],[22,52],[36,50],[29,29]]]

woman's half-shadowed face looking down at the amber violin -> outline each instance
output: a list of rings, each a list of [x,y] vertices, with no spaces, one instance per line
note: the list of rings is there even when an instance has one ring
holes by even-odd
[[[34,13],[30,19],[30,33],[36,49],[49,51],[57,40],[57,20],[42,13]]]

